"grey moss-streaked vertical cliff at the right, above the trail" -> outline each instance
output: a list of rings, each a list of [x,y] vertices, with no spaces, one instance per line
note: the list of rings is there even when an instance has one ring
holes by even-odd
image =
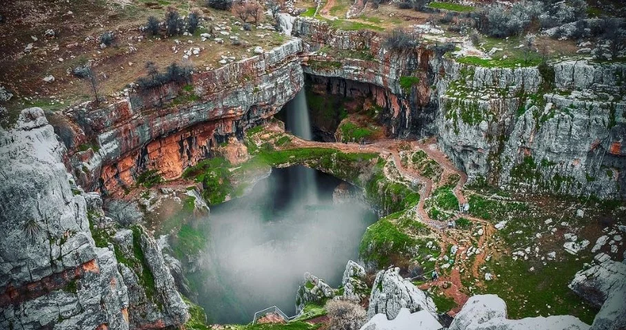
[[[434,62],[439,145],[469,181],[523,192],[626,196],[624,65]]]

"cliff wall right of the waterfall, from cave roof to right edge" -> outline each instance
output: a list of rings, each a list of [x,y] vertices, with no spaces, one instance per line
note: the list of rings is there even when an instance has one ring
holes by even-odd
[[[297,19],[293,31],[303,39],[303,71],[316,90],[374,99],[394,136],[438,136],[470,183],[626,196],[626,65],[483,68],[428,49],[397,54],[374,32],[312,19]],[[418,83],[405,90],[403,76]]]

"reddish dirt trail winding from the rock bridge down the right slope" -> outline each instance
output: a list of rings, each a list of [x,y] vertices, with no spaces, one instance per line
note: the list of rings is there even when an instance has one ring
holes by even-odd
[[[329,1],[330,2],[330,1]],[[420,289],[430,289],[430,287],[440,287],[443,290],[445,296],[454,299],[457,307],[448,312],[450,316],[456,315],[458,311],[461,310],[461,307],[465,304],[469,296],[467,295],[467,287],[463,285],[461,281],[461,274],[467,269],[471,271],[471,274],[474,278],[481,279],[480,269],[481,266],[485,263],[487,256],[491,254],[489,251],[489,240],[492,235],[496,232],[494,226],[489,223],[489,221],[476,218],[474,216],[469,216],[468,214],[455,211],[454,216],[451,220],[456,220],[460,217],[467,218],[471,220],[476,225],[480,225],[483,229],[483,234],[478,236],[476,245],[472,239],[472,231],[468,233],[468,229],[460,229],[460,228],[447,228],[447,223],[440,220],[434,220],[430,218],[425,210],[425,200],[430,198],[432,189],[436,183],[434,183],[430,178],[422,176],[419,172],[414,169],[403,166],[400,156],[400,147],[401,145],[405,145],[409,143],[411,146],[410,151],[417,151],[418,149],[423,150],[428,157],[432,158],[438,165],[440,165],[443,169],[441,174],[441,178],[438,181],[438,185],[441,183],[445,183],[446,179],[450,177],[452,174],[457,174],[459,179],[452,189],[454,196],[458,199],[458,202],[463,205],[467,203],[467,198],[463,194],[463,186],[467,182],[467,174],[465,172],[458,169],[450,158],[441,152],[438,149],[436,144],[436,138],[429,138],[425,141],[414,141],[414,140],[387,140],[387,141],[375,141],[371,144],[361,145],[359,143],[328,143],[328,142],[317,142],[317,141],[305,141],[301,138],[297,138],[292,136],[292,145],[296,147],[325,147],[325,148],[333,148],[340,150],[341,152],[374,152],[380,154],[383,158],[387,159],[387,161],[392,161],[398,170],[399,174],[403,176],[404,179],[410,181],[412,183],[421,183],[422,187],[419,191],[420,199],[418,205],[416,206],[416,217],[418,221],[428,225],[432,232],[437,236],[438,244],[441,247],[441,255],[436,260],[435,269],[440,274],[438,280],[426,282],[423,285],[420,285]],[[387,173],[387,172],[386,172]],[[390,178],[392,179],[392,178]],[[474,226],[476,227],[476,226]],[[442,267],[445,263],[448,263],[444,260],[443,256],[446,256],[450,252],[450,248],[456,245],[458,247],[456,254],[452,256],[453,263],[450,263],[448,267]],[[467,251],[472,248],[477,248],[480,250],[478,254],[472,254],[474,256],[474,260],[470,259],[470,256],[467,256]],[[472,249],[472,251],[476,251]],[[467,265],[467,263],[471,263],[471,265]],[[425,271],[430,271],[425,269]],[[425,274],[426,275],[426,274]],[[478,282],[476,285],[480,285]]]

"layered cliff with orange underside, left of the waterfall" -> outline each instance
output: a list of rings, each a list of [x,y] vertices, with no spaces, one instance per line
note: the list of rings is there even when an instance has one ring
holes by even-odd
[[[178,178],[228,136],[241,138],[245,128],[270,118],[292,99],[303,85],[300,51],[301,41],[293,40],[192,74],[190,87],[169,83],[132,92],[107,107],[88,104],[68,110],[58,130],[66,132],[64,141],[76,151],[74,174],[86,188],[104,192],[132,185],[145,169],[164,179]],[[98,147],[81,148],[89,141]]]

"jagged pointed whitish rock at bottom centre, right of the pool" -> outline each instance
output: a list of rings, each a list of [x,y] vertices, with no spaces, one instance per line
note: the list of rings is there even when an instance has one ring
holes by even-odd
[[[432,298],[415,287],[409,280],[404,280],[395,269],[385,269],[376,274],[372,285],[370,307],[367,309],[367,318],[373,318],[383,313],[387,319],[393,320],[403,308],[416,312],[425,310],[437,318],[436,306]]]

